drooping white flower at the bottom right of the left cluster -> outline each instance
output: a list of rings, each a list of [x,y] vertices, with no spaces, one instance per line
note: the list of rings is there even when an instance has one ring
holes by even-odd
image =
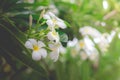
[[[50,52],[50,58],[55,62],[59,58],[59,52],[60,52],[60,43],[53,43],[49,44],[50,49],[52,50]]]

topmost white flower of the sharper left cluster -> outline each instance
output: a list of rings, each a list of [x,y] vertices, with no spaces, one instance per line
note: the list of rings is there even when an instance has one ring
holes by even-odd
[[[56,17],[52,12],[47,12],[45,15],[43,15],[43,18],[47,19],[46,23],[50,29],[54,29],[55,27],[60,27],[62,29],[66,28],[64,21]]]

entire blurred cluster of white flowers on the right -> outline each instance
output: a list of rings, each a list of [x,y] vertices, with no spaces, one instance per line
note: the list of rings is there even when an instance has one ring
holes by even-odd
[[[80,56],[82,60],[89,59],[95,63],[99,61],[100,53],[105,53],[108,50],[109,44],[115,35],[114,31],[110,34],[101,33],[90,26],[80,28],[79,32],[82,34],[83,39],[74,38],[67,43],[67,46],[71,48],[71,56]]]

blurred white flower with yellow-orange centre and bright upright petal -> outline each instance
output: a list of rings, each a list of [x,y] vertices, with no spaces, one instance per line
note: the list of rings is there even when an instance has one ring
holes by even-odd
[[[99,55],[95,48],[95,44],[88,36],[84,36],[84,38],[77,43],[76,50],[80,53],[82,60],[89,59],[91,61],[96,61],[98,59]]]

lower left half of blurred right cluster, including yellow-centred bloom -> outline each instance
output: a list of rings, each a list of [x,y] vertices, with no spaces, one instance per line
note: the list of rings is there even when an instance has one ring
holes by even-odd
[[[70,45],[71,43],[72,45]],[[74,38],[73,41],[68,41],[68,47],[72,47],[72,57],[80,55],[82,60],[90,59],[91,61],[96,61],[98,59],[98,51],[88,36],[82,40]]]

